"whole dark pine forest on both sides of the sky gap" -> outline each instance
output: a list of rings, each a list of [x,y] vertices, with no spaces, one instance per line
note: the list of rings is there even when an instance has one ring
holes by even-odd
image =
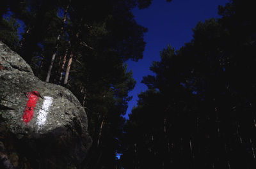
[[[93,144],[81,168],[256,168],[252,1],[219,6],[221,17],[198,22],[191,41],[163,48],[125,119],[136,85],[125,62],[143,58],[147,33],[132,9],[151,3],[2,0],[0,40],[83,105]]]

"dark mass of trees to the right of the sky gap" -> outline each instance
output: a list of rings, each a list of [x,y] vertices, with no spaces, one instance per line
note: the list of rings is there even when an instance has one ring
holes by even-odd
[[[124,128],[124,168],[256,168],[253,13],[233,0],[180,50],[161,51]]]

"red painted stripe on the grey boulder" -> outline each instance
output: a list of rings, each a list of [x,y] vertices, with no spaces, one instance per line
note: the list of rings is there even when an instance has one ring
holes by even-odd
[[[26,122],[26,124],[29,121],[31,121],[34,115],[34,108],[36,107],[38,96],[39,96],[39,93],[37,91],[27,92],[28,102],[23,115],[23,121]]]

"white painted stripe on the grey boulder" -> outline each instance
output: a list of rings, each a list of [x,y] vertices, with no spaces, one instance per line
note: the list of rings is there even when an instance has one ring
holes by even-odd
[[[49,113],[49,107],[52,105],[52,97],[44,96],[44,102],[42,108],[39,110],[39,114],[37,116],[36,124],[38,124],[38,129],[42,129],[45,124],[47,114]]]

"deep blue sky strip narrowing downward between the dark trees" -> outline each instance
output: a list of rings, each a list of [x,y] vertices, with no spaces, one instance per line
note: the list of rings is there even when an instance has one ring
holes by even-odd
[[[147,89],[147,86],[140,82],[143,76],[153,75],[149,67],[152,61],[160,61],[159,52],[168,44],[179,49],[189,42],[192,39],[193,27],[199,21],[220,17],[218,5],[225,3],[228,3],[228,0],[173,0],[171,3],[166,0],[154,0],[149,8],[136,8],[132,11],[136,22],[147,27],[148,32],[145,34],[147,45],[143,59],[138,62],[127,61],[128,70],[132,70],[137,84],[129,93],[133,98],[129,101],[126,118],[132,107],[136,106],[137,95]]]

